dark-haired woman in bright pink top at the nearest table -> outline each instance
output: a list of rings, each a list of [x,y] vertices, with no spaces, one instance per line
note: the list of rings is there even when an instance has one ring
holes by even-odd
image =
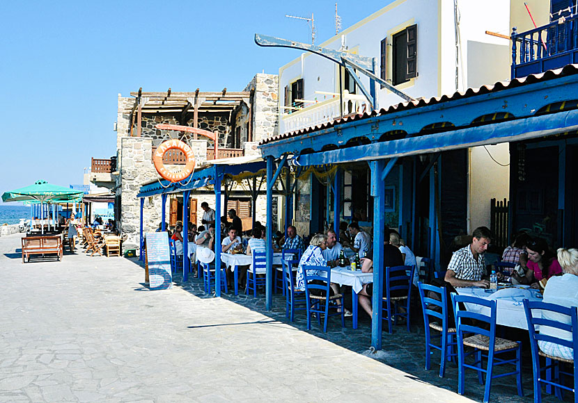
[[[528,263],[526,263],[528,270],[525,276],[513,272],[513,278],[521,284],[531,284],[533,288],[539,288],[538,282],[540,282],[543,288],[550,277],[562,272],[560,263],[542,238],[530,240],[526,245],[526,252],[528,253]]]

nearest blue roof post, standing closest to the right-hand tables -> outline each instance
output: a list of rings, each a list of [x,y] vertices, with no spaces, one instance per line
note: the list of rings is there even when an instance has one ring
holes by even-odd
[[[373,297],[371,306],[371,346],[382,349],[382,298],[384,282],[385,183],[382,172],[385,161],[370,163],[371,195],[373,196]]]

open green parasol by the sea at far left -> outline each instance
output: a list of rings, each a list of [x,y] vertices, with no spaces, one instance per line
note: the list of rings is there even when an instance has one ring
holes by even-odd
[[[4,192],[2,201],[39,201],[40,203],[63,203],[77,201],[83,195],[82,190],[73,190],[64,186],[51,185],[47,181],[36,181],[31,186]]]

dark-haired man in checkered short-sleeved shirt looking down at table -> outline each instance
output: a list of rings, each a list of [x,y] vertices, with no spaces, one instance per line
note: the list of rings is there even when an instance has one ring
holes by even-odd
[[[484,253],[491,241],[490,229],[476,228],[472,234],[471,244],[462,247],[451,256],[445,280],[454,287],[490,286],[483,277],[486,274]]]

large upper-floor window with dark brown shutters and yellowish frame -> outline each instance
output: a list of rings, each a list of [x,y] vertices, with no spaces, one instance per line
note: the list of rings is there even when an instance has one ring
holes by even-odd
[[[386,45],[382,40],[382,52]],[[393,35],[392,83],[398,85],[417,76],[417,25],[408,26]],[[385,56],[382,54],[382,74]]]

